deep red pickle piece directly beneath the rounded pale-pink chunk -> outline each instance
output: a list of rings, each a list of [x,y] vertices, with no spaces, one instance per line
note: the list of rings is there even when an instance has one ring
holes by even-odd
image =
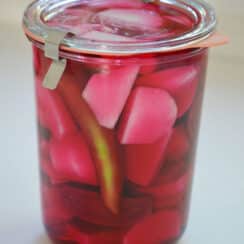
[[[169,135],[153,144],[126,145],[126,176],[133,183],[147,186],[164,163],[164,154]]]

